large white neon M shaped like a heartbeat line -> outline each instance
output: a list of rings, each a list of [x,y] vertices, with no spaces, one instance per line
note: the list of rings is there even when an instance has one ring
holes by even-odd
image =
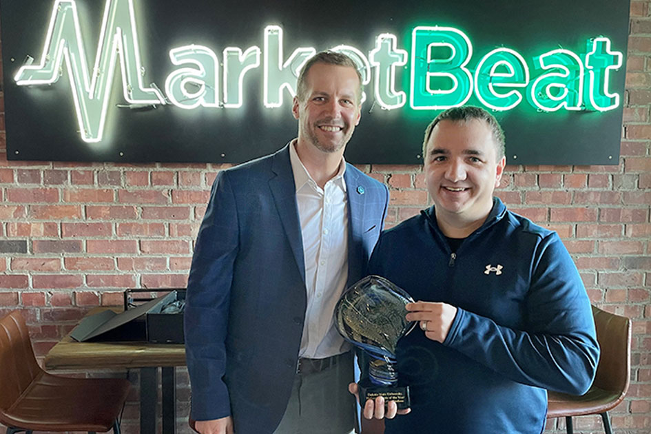
[[[107,0],[95,65],[89,74],[74,0],[56,0],[39,65],[24,65],[14,76],[18,85],[52,84],[65,60],[77,122],[83,141],[102,140],[116,59],[120,58],[124,98],[129,103],[164,104],[155,87],[145,87],[133,0]]]

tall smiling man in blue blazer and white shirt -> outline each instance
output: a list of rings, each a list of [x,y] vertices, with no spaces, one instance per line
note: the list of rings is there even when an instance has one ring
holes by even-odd
[[[185,347],[202,434],[353,428],[353,363],[332,314],[365,275],[389,192],[343,159],[360,121],[355,63],[316,54],[297,87],[298,138],[220,172],[198,233]]]

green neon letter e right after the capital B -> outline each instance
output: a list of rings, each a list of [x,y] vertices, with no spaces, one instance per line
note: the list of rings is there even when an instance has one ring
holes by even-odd
[[[497,48],[477,63],[475,95],[493,110],[511,110],[522,101],[517,88],[529,84],[529,68],[524,58],[508,48]],[[511,89],[504,93],[505,90]]]

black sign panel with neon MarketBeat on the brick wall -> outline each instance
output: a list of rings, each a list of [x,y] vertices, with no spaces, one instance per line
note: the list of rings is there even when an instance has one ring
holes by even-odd
[[[8,158],[247,161],[296,136],[296,71],[335,49],[367,81],[353,163],[420,163],[429,121],[473,104],[509,163],[617,164],[629,6],[0,0]]]

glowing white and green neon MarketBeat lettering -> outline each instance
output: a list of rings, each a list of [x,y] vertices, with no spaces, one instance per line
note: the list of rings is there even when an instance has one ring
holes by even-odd
[[[89,71],[76,3],[56,0],[40,63],[25,64],[14,76],[17,85],[50,85],[59,80],[65,63],[81,138],[88,143],[102,140],[117,61],[124,99],[130,104],[237,109],[244,101],[246,74],[262,68],[262,103],[273,109],[283,105],[285,91],[289,96],[296,94],[298,72],[316,53],[313,47],[302,47],[286,56],[278,25],[264,29],[262,49],[256,45],[245,50],[225,48],[221,70],[211,48],[183,45],[169,50],[169,59],[178,68],[168,74],[163,94],[154,83],[144,82],[133,1],[106,1],[95,62]],[[522,101],[541,112],[606,112],[621,103],[621,96],[610,91],[610,74],[621,68],[623,55],[612,50],[606,37],[590,39],[584,53],[551,50],[529,63],[515,50],[496,48],[484,54],[474,70],[468,68],[473,44],[453,27],[414,28],[411,56],[397,47],[397,37],[391,33],[378,35],[368,55],[351,45],[331,50],[351,56],[364,84],[373,78],[373,98],[384,110],[442,110],[467,103],[473,94],[497,111],[513,110]],[[398,90],[397,69],[408,61],[409,89]]]

